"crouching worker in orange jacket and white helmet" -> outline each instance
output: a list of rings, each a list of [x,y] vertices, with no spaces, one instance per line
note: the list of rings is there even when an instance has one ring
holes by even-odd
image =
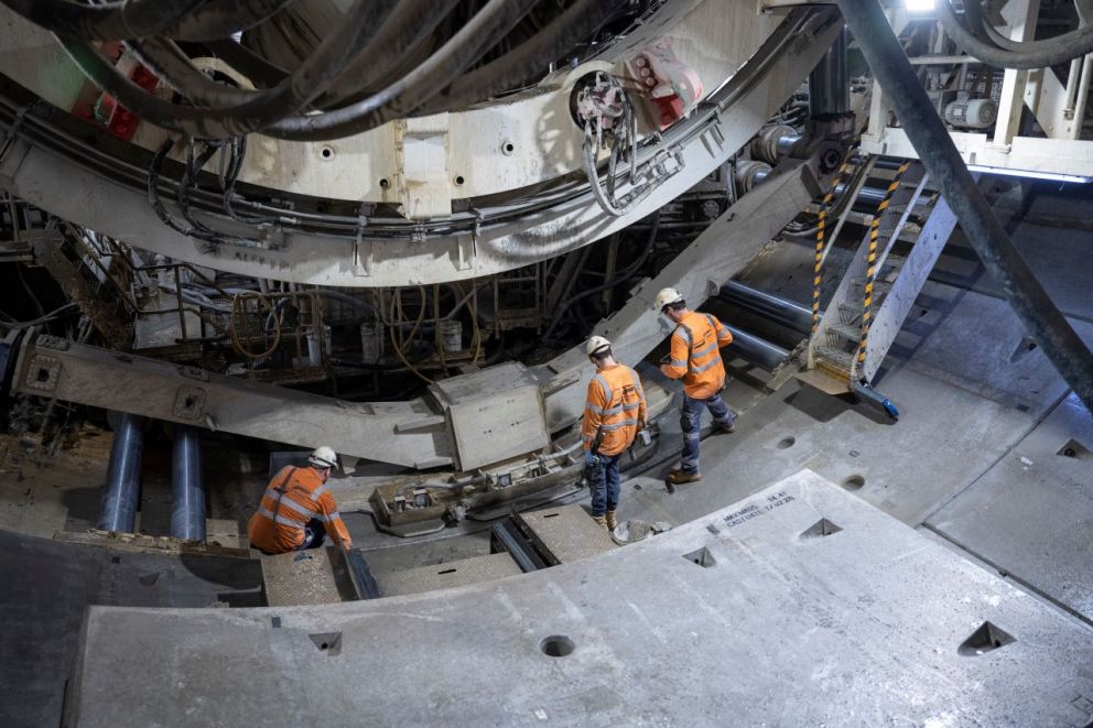
[[[326,489],[337,455],[324,445],[311,454],[307,463],[309,467],[281,468],[250,517],[250,545],[264,554],[318,548],[327,533],[345,548],[353,545],[338,504]]]

